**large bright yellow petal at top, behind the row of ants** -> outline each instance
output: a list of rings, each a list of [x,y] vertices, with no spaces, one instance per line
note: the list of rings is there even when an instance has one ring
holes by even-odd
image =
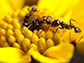
[[[79,0],[39,0],[38,7],[49,12],[56,12],[58,16],[73,8]]]

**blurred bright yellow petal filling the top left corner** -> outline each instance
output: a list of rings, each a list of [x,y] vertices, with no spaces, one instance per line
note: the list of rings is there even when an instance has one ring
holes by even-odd
[[[7,0],[0,0],[0,18],[3,18],[7,13],[13,12],[12,7]]]

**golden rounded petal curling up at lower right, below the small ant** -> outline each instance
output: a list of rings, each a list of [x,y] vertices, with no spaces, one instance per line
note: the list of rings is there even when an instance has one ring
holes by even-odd
[[[74,46],[72,44],[59,44],[47,49],[43,55],[49,58],[69,62],[73,56]]]

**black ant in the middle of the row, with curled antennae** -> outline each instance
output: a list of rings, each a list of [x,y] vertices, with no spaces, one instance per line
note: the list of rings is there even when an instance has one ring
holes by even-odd
[[[33,20],[31,22],[31,24],[28,26],[28,29],[30,30],[39,30],[39,29],[42,29],[42,24],[46,21],[47,24],[50,24],[50,19],[48,19],[50,16],[47,17],[47,19],[44,19],[44,17],[46,16],[43,16],[43,20],[40,20],[39,18],[37,18],[36,20]]]

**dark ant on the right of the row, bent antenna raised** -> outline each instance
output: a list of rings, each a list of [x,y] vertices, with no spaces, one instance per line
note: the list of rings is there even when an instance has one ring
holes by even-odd
[[[52,23],[51,23],[51,27],[56,27],[56,26],[59,26],[61,25],[62,27],[59,27],[60,29],[72,29],[74,28],[75,30],[75,33],[78,33],[78,32],[81,32],[81,30],[78,28],[78,27],[75,27],[74,25],[71,25],[71,20],[75,21],[74,19],[70,19],[70,25],[64,23],[64,22],[60,22],[59,20],[54,20]]]

